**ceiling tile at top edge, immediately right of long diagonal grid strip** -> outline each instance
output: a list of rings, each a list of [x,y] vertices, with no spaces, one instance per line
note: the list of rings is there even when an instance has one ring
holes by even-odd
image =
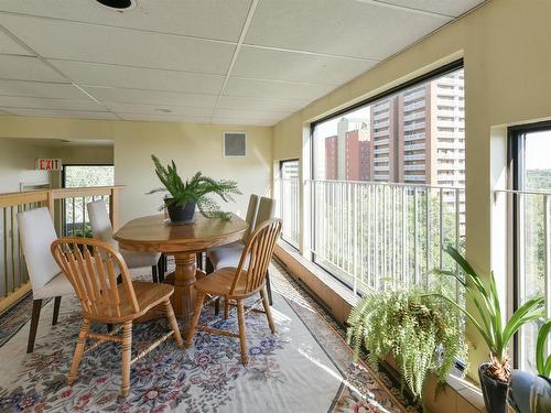
[[[383,59],[451,20],[354,0],[268,0],[245,43]]]

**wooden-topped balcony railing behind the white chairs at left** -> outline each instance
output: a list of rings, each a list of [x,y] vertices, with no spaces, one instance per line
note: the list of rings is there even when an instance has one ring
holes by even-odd
[[[47,207],[57,235],[83,237],[89,233],[86,204],[90,200],[105,199],[114,228],[118,227],[120,188],[98,186],[0,194],[0,311],[8,308],[31,290],[17,214]]]

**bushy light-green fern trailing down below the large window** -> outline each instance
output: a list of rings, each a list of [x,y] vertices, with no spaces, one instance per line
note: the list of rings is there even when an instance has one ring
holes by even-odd
[[[420,289],[368,294],[355,306],[348,324],[355,356],[364,345],[374,369],[392,356],[402,384],[423,404],[428,374],[433,372],[443,384],[455,360],[466,356],[458,311],[449,311]]]

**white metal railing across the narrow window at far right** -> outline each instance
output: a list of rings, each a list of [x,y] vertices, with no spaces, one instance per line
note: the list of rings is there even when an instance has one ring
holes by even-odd
[[[516,289],[520,302],[536,294],[545,296],[545,318],[551,318],[551,191],[510,191],[494,192],[496,205],[508,210],[505,228],[508,222],[516,222]],[[517,208],[514,217],[514,206]],[[511,228],[511,227],[509,227]],[[512,233],[509,233],[512,237]],[[510,238],[511,239],[511,238]],[[517,303],[517,304],[521,304]],[[538,323],[522,327],[519,340],[520,367],[534,370],[534,349],[538,335]],[[548,340],[548,354],[551,352],[551,340]]]

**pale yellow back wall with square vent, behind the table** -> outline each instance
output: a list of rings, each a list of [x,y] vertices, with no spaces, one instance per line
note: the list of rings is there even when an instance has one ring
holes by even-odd
[[[223,157],[223,132],[247,132],[247,157]],[[114,141],[115,180],[126,185],[120,203],[121,221],[155,214],[162,195],[144,195],[159,187],[150,155],[174,160],[182,176],[197,171],[238,182],[244,195],[226,210],[245,215],[251,193],[270,192],[272,130],[266,127],[196,123],[127,122],[84,119],[0,117],[0,138],[41,138]]]

